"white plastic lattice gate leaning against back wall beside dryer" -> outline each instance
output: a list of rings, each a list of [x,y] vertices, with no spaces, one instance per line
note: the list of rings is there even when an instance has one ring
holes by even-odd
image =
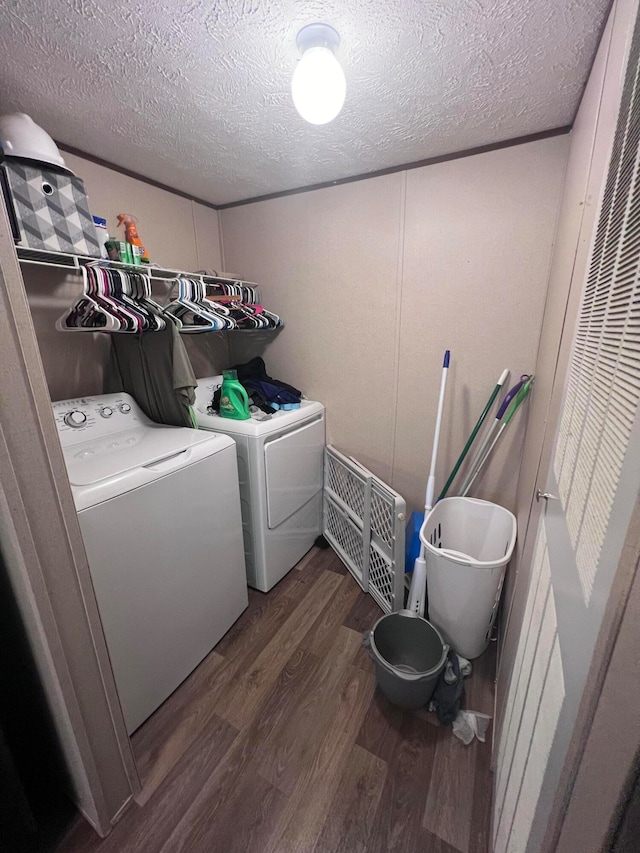
[[[325,448],[323,533],[385,613],[404,606],[406,503],[355,459]]]

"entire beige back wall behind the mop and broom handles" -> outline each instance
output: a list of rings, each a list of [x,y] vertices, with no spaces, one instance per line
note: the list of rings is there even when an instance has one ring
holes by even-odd
[[[443,484],[504,367],[533,372],[566,136],[221,211],[227,267],[287,327],[233,339],[327,406],[329,439],[424,503],[442,355]],[[480,483],[513,506],[524,419]]]

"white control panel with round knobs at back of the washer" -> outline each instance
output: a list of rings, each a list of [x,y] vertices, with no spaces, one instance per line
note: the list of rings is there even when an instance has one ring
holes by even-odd
[[[59,400],[52,407],[63,447],[151,423],[133,397],[124,392]]]

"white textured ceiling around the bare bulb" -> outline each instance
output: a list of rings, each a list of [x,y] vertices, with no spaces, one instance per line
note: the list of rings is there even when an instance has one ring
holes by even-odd
[[[571,123],[609,0],[3,0],[0,112],[217,204]],[[338,118],[296,113],[332,24]]]

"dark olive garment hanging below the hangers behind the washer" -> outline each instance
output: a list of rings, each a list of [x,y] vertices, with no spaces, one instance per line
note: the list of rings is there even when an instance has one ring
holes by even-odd
[[[193,427],[196,377],[178,329],[112,335],[106,393],[125,391],[159,424]]]

